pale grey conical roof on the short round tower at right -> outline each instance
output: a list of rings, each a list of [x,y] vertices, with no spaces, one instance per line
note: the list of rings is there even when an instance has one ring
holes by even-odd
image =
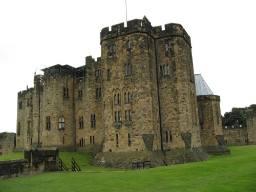
[[[201,74],[195,74],[195,83],[196,83],[196,91],[197,96],[199,95],[214,95],[210,90],[209,86],[201,76]]]

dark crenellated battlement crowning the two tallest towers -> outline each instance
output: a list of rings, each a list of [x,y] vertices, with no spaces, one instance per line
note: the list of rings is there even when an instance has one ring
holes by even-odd
[[[182,36],[187,44],[191,47],[190,37],[185,29],[180,24],[169,23],[164,25],[165,30],[162,30],[161,26],[153,27],[151,22],[144,16],[143,19],[133,19],[127,22],[127,27],[124,27],[124,23],[116,24],[109,27],[105,27],[100,32],[100,44],[103,40],[114,38],[120,35],[141,32],[148,33],[154,38],[162,38],[166,36]]]

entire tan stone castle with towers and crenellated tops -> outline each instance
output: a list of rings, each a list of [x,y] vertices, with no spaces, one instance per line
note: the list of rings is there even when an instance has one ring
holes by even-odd
[[[194,75],[190,37],[180,24],[162,30],[144,16],[103,28],[100,45],[96,61],[42,69],[34,88],[18,92],[17,148],[92,152],[101,166],[229,153],[220,96]]]

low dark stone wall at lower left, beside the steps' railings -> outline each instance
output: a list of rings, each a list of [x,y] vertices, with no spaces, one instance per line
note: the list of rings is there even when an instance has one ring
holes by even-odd
[[[58,170],[57,148],[25,151],[25,159],[0,161],[0,180]]]

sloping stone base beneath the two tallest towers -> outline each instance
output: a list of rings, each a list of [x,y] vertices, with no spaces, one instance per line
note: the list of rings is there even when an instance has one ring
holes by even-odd
[[[180,148],[170,151],[136,151],[98,153],[92,165],[102,167],[132,168],[132,163],[151,161],[152,167],[204,161],[209,155],[202,147]]]

